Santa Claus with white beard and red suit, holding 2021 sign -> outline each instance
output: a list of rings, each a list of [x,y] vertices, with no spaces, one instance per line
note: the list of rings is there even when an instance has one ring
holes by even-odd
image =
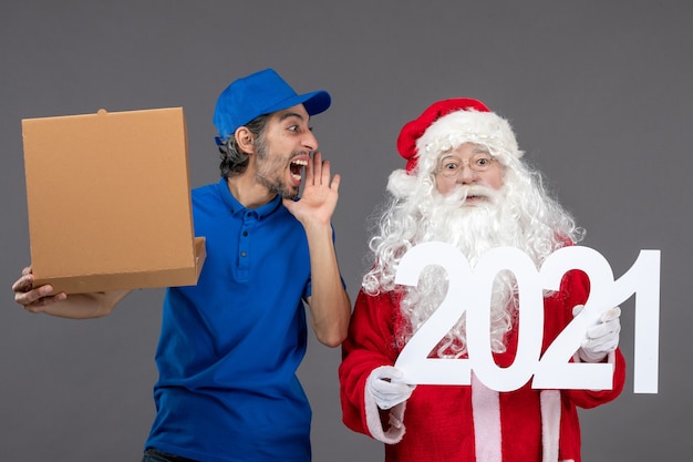
[[[394,280],[404,254],[421,243],[452,244],[472,265],[494,247],[513,246],[539,267],[555,250],[578,243],[582,229],[523,161],[508,121],[480,101],[434,103],[404,125],[397,150],[406,167],[390,176],[392,201],[370,242],[374,265],[363,278],[343,343],[344,423],[384,442],[386,461],[579,462],[577,408],[609,402],[623,388],[618,307],[588,329],[573,358],[613,363],[611,390],[539,390],[527,383],[497,392],[474,374],[470,386],[415,387],[399,381],[402,372],[393,365],[454,281],[436,266],[416,287]],[[558,290],[546,294],[542,351],[588,295],[581,271],[568,273]],[[513,274],[498,274],[489,348],[499,367],[513,365],[517,351],[517,300]],[[466,358],[466,328],[463,315],[430,357]]]

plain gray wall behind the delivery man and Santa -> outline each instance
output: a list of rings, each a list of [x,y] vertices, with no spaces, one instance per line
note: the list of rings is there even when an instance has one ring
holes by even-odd
[[[659,393],[634,394],[631,370],[617,401],[582,412],[583,458],[687,459],[691,10],[638,0],[3,0],[0,460],[139,460],[163,298],[141,290],[111,317],[86,321],[14,304],[10,285],[29,264],[21,119],[183,106],[199,186],[218,178],[218,93],[266,66],[299,91],[333,96],[313,126],[343,176],[334,226],[352,297],[369,265],[366,219],[403,166],[399,130],[445,97],[482,99],[511,121],[617,277],[640,249],[661,249]],[[623,304],[621,343],[631,365],[632,308]],[[380,461],[380,443],[341,423],[339,360],[339,349],[311,338],[300,373],[314,460]]]

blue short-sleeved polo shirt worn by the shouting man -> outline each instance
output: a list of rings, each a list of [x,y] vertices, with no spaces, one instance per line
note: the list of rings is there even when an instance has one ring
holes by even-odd
[[[156,419],[146,446],[205,461],[310,460],[306,353],[310,260],[302,225],[276,197],[245,208],[226,179],[193,191],[206,237],[198,284],[166,292]]]

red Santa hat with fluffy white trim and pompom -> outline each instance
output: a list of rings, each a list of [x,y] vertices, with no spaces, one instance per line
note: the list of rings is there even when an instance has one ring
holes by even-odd
[[[437,101],[402,127],[397,151],[406,160],[406,168],[393,172],[387,189],[395,196],[405,196],[424,160],[435,162],[442,152],[463,143],[482,144],[500,157],[519,158],[524,154],[508,121],[482,101],[470,97]]]

